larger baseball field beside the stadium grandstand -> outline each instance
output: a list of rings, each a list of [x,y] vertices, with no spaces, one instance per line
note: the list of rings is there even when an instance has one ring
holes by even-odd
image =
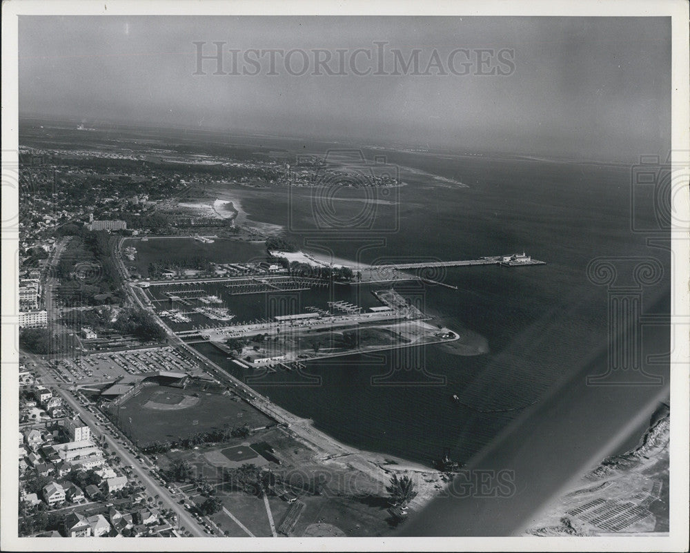
[[[120,425],[139,446],[154,441],[187,438],[225,425],[251,429],[273,425],[244,401],[232,396],[169,386],[148,386],[126,400],[119,409]],[[246,448],[248,449],[248,448]]]

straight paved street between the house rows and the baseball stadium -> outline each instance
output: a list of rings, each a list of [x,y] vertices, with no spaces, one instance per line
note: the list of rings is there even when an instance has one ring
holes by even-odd
[[[50,374],[48,373],[46,367],[43,366],[42,360],[31,355],[29,355],[29,357],[36,362],[35,368],[37,371],[39,371],[39,373],[41,373],[41,378],[45,377],[46,381],[48,381],[50,379]],[[155,481],[155,479],[152,478],[148,472],[146,472],[146,469],[144,469],[135,456],[128,452],[124,445],[110,436],[107,431],[103,431],[103,428],[96,424],[97,421],[95,417],[89,411],[87,411],[83,405],[81,405],[81,403],[75,400],[71,394],[69,394],[66,390],[61,389],[59,386],[55,387],[55,391],[57,391],[61,398],[63,398],[63,400],[68,403],[70,407],[72,407],[72,409],[79,414],[79,416],[81,416],[81,419],[91,427],[91,429],[94,431],[94,434],[97,436],[103,436],[103,438],[106,439],[106,442],[110,447],[110,451],[115,452],[115,454],[121,458],[124,465],[132,468],[132,471],[135,472],[139,478],[141,478],[141,482],[144,483],[149,494],[151,496],[158,494],[161,498],[161,501],[166,504],[166,507],[172,509],[172,511],[177,514],[180,526],[184,526],[191,534],[195,536],[206,536],[204,529],[199,525],[195,518],[184,509],[184,507],[175,501],[175,498],[172,498],[168,489]]]

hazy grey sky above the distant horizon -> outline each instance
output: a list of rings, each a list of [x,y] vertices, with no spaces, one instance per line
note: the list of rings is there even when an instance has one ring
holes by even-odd
[[[213,75],[197,70],[197,46],[307,51],[306,75]],[[404,58],[421,48],[420,72],[434,48],[448,75],[357,76],[373,68],[374,41]],[[311,75],[314,48],[346,50],[348,75]],[[453,75],[463,61],[469,75]],[[511,75],[495,56],[477,68],[478,48],[514,52]],[[506,54],[511,57],[511,54]],[[257,57],[257,56],[256,56]],[[291,58],[294,72],[302,57]],[[255,130],[275,135],[405,142],[453,149],[492,149],[596,159],[629,159],[669,148],[670,20],[662,18],[468,17],[20,17],[19,110],[22,115],[113,120],[160,126]]]

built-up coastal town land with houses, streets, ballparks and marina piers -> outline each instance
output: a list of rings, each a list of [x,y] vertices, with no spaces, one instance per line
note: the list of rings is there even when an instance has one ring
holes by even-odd
[[[183,156],[171,168],[170,154],[149,156],[22,150],[20,535],[392,532],[451,478],[450,465],[337,443],[194,346],[206,342],[241,372],[270,378],[302,375],[308,360],[460,335],[391,288],[420,281],[414,273],[319,260],[239,224],[239,202],[204,192],[233,177],[276,186],[288,173],[279,177],[275,162]],[[324,168],[301,163],[288,186],[309,186]],[[263,254],[176,257],[166,241]],[[151,244],[164,260],[147,253]],[[380,283],[368,307],[323,295],[359,282]],[[295,291],[324,299],[304,311],[233,312],[233,298]]]

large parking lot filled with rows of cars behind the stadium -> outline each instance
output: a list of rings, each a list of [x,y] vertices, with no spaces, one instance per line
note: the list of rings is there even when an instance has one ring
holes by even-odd
[[[198,373],[193,360],[172,347],[135,349],[117,353],[94,353],[89,356],[55,361],[51,367],[63,382],[92,384],[112,382],[123,376],[137,376],[157,371]]]

